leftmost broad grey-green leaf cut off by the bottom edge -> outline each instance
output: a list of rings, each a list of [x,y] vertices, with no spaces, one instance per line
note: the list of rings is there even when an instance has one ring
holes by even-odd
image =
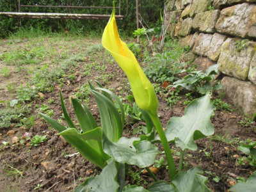
[[[116,182],[117,164],[113,159],[109,159],[108,165],[102,170],[100,175],[86,179],[74,192],[103,192],[118,191],[119,184]]]

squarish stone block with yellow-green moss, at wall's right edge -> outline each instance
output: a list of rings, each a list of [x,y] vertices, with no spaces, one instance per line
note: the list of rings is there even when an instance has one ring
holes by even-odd
[[[255,54],[255,47],[255,42],[239,38],[227,38],[221,47],[218,69],[228,76],[246,80]]]

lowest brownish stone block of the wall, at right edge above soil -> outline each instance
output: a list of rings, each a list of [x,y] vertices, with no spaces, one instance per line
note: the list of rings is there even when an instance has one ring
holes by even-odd
[[[250,81],[241,81],[234,77],[223,77],[221,80],[225,95],[248,116],[256,113],[256,86]]]

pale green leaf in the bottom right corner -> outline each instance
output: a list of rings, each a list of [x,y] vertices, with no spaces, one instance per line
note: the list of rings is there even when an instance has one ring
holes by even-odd
[[[255,192],[256,191],[256,172],[249,177],[246,182],[239,182],[229,189],[233,192]]]

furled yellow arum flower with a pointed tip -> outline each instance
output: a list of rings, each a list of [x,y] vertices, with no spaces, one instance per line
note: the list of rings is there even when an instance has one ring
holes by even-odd
[[[131,84],[132,93],[138,107],[150,112],[152,115],[157,115],[158,100],[156,93],[134,54],[119,37],[115,20],[115,8],[104,29],[102,45],[112,54],[118,65],[124,70]]]

